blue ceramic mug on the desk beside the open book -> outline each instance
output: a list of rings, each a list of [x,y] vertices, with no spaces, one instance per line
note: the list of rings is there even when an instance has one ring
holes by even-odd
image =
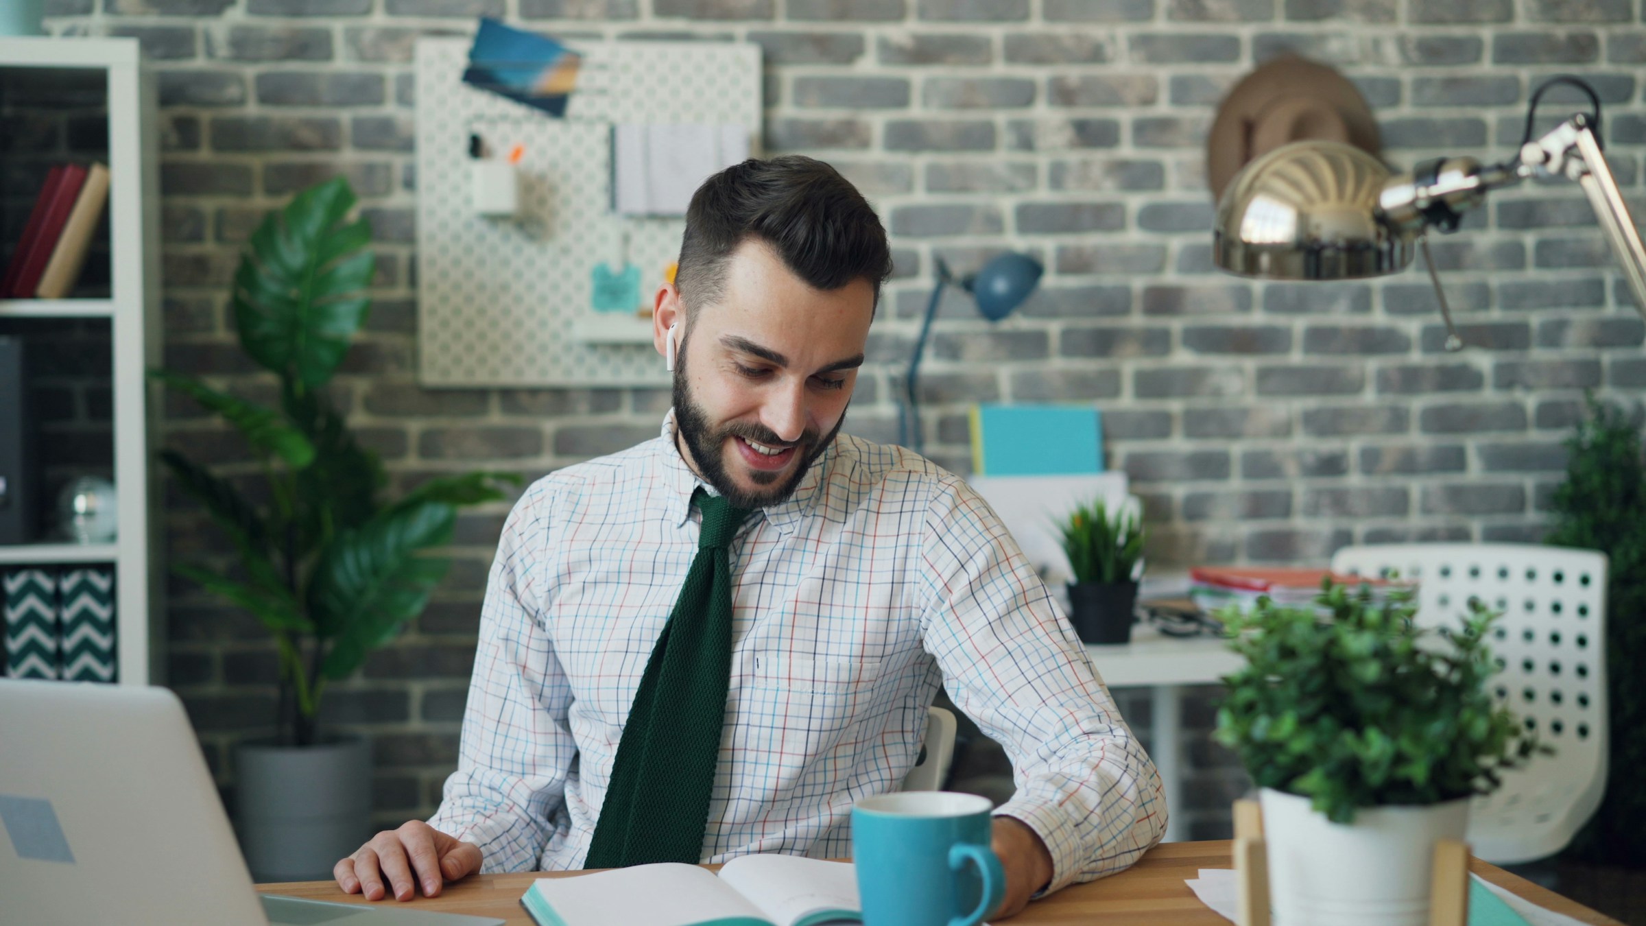
[[[864,926],[978,926],[1006,896],[989,849],[994,804],[976,794],[905,791],[851,809]]]

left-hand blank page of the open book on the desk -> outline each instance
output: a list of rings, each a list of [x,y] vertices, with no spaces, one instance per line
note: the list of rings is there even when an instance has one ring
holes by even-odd
[[[538,878],[520,903],[540,926],[775,926],[708,868],[675,862]]]

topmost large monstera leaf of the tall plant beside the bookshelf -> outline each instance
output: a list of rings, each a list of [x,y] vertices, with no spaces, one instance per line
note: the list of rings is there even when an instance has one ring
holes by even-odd
[[[365,219],[339,227],[351,208],[342,178],[305,189],[252,232],[234,275],[240,346],[305,391],[331,379],[370,306],[372,227]]]

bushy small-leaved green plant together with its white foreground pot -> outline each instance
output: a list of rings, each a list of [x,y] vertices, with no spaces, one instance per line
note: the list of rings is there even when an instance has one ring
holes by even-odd
[[[1317,608],[1218,613],[1246,666],[1215,738],[1261,788],[1277,926],[1427,924],[1435,840],[1463,839],[1468,799],[1541,750],[1486,689],[1496,615],[1470,601],[1425,631],[1412,598],[1327,577]]]

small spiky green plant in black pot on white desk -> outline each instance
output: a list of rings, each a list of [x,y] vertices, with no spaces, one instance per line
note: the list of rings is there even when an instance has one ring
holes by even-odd
[[[1058,526],[1075,580],[1068,620],[1085,643],[1131,641],[1144,529],[1136,507],[1109,512],[1103,499],[1076,504]]]

